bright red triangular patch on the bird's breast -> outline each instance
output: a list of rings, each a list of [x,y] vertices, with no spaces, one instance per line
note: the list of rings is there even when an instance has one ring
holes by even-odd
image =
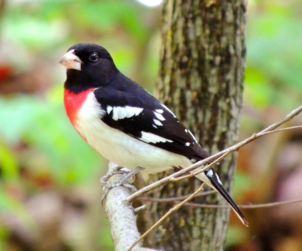
[[[77,122],[78,111],[87,99],[88,94],[94,90],[95,88],[90,88],[78,94],[69,92],[66,89],[64,90],[64,106],[73,127]]]

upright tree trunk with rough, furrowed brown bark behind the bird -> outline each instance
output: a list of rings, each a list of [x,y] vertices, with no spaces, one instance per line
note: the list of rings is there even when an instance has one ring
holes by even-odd
[[[234,144],[242,106],[247,0],[165,0],[157,96],[211,153]],[[231,190],[236,156],[216,166]],[[159,176],[162,177],[162,174]],[[192,193],[196,178],[170,183],[154,197]],[[226,204],[215,194],[198,203]],[[158,220],[171,204],[153,203]],[[221,250],[230,210],[183,207],[148,239],[165,250]]]

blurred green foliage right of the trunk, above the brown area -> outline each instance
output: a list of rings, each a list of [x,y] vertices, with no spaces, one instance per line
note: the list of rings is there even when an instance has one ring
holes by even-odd
[[[251,1],[245,102],[292,109],[302,99],[302,4]]]

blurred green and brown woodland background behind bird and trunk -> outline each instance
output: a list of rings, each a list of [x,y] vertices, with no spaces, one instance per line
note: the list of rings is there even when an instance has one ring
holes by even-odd
[[[103,45],[154,92],[161,0],[0,0],[0,251],[114,250],[100,204],[107,161],[65,115],[73,44]],[[302,100],[302,2],[249,0],[240,139]],[[286,126],[301,124],[302,115]],[[239,152],[239,204],[302,198],[302,132],[265,136]],[[232,214],[225,250],[302,250],[302,203]]]

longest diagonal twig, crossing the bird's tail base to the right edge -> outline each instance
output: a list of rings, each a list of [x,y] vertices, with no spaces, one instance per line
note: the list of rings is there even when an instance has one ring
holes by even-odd
[[[289,121],[290,119],[292,119],[294,116],[298,115],[300,112],[302,111],[302,105],[299,106],[297,109],[291,111],[290,113],[288,113],[285,117],[283,117],[281,120],[279,120],[278,122],[272,124],[271,126],[267,127],[266,129],[262,130],[261,132],[257,133],[257,134],[253,134],[251,137],[247,138],[246,140],[244,141],[241,141],[240,143],[237,143],[235,144],[234,146],[232,147],[229,147],[219,153],[216,153],[204,160],[201,160],[201,161],[198,161],[197,163],[187,167],[187,168],[184,168],[178,172],[175,172],[165,178],[162,178],[161,180],[158,180],[152,184],[149,184],[145,187],[143,187],[142,189],[140,189],[139,191],[137,191],[136,193],[132,194],[131,196],[129,196],[127,198],[127,203],[130,204],[133,200],[137,199],[138,197],[146,194],[146,193],[149,193],[150,191],[156,189],[157,187],[159,186],[162,186],[170,181],[172,181],[173,179],[177,178],[177,177],[180,177],[188,172],[191,172],[193,170],[195,170],[196,168],[199,168],[199,167],[202,167],[204,166],[205,164],[208,164],[208,163],[211,163],[212,161],[216,160],[217,158],[219,158],[220,156],[226,154],[226,155],[229,155],[230,153],[232,152],[235,152],[235,151],[238,151],[241,147],[247,145],[248,143],[260,138],[261,136],[263,135],[266,135],[267,132],[271,132],[273,131],[274,129],[276,129],[277,127],[281,126],[281,124]],[[275,130],[277,131],[277,130]],[[281,130],[281,131],[284,131],[284,130]],[[225,156],[226,156],[225,155]],[[205,171],[208,169],[208,166],[205,167],[205,168],[202,168],[200,171]]]

